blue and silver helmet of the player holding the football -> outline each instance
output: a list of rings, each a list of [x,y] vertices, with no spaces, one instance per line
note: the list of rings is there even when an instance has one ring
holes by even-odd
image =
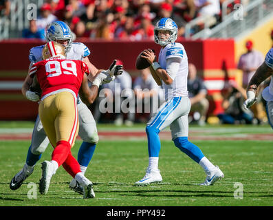
[[[158,31],[160,30],[168,30],[170,31],[170,37],[168,39],[162,39],[158,36]],[[177,25],[175,21],[170,18],[163,18],[160,21],[157,21],[154,29],[155,34],[155,43],[166,46],[168,43],[175,43],[177,39]]]

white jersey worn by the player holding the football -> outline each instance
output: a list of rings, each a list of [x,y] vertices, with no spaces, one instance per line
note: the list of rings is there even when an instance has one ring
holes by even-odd
[[[162,69],[166,69],[168,58],[182,58],[179,70],[173,78],[171,85],[166,85],[162,82],[162,88],[165,91],[165,100],[170,100],[173,97],[186,96],[188,97],[187,80],[188,80],[188,56],[181,43],[169,43],[166,47],[160,50],[158,62]]]

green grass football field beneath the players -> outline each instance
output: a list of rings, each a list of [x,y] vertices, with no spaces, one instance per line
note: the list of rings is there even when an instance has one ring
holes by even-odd
[[[38,190],[41,162],[50,160],[49,146],[34,173],[18,190],[9,188],[12,177],[23,167],[33,122],[0,122],[0,206],[272,206],[273,132],[270,126],[190,126],[190,140],[223,171],[225,178],[214,186],[199,186],[204,170],[162,137],[159,168],[163,181],[134,186],[148,166],[145,137],[102,136],[85,175],[94,183],[96,198],[68,188],[70,177],[60,167],[52,177],[47,195]],[[116,128],[100,124],[98,131],[144,131],[144,124]],[[166,131],[168,133],[168,131]],[[1,139],[1,135],[10,135]],[[104,134],[105,135],[105,134]],[[72,154],[76,157],[80,140]]]

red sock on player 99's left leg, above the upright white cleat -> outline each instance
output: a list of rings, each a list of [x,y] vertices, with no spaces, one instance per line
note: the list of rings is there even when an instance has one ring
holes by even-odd
[[[52,152],[52,160],[56,161],[58,166],[61,166],[65,162],[65,159],[67,159],[70,148],[71,145],[69,142],[64,140],[57,142],[56,148],[54,148],[54,151]]]

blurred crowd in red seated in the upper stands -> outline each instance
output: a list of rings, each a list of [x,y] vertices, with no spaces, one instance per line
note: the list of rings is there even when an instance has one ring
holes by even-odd
[[[1,0],[9,1],[9,0]],[[153,28],[162,17],[170,17],[179,28],[177,36],[184,36],[186,23],[209,16],[210,26],[221,22],[221,5],[225,0],[45,0],[39,17],[24,30],[23,38],[41,38],[49,23],[65,21],[75,37],[91,39],[153,40]],[[234,4],[228,5],[228,13]],[[36,27],[34,27],[36,25]],[[200,22],[193,32],[204,28]]]

